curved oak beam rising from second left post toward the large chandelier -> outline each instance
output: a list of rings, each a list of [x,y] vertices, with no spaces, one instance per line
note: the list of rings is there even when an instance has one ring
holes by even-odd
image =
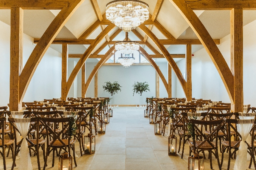
[[[105,38],[105,36],[115,27],[114,24],[108,25],[101,33],[97,36],[97,38],[94,40],[94,42],[88,47],[88,49],[85,51],[85,53],[81,56],[80,60],[77,62],[74,70],[69,76],[69,79],[67,80],[67,94],[69,93],[70,87],[76,78],[76,75],[78,74],[79,70],[82,68],[82,65],[85,63],[89,55],[91,55],[91,52],[95,47]]]

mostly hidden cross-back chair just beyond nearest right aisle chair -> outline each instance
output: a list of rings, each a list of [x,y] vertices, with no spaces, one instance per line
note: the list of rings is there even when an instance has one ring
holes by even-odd
[[[207,112],[201,113],[201,119],[200,120],[206,120],[207,118]],[[180,142],[179,142],[179,149],[178,149],[178,153],[180,153],[180,145],[181,145],[181,140],[183,140],[182,142],[182,153],[181,153],[181,159],[183,158],[184,155],[184,146],[185,143],[187,141],[189,141],[189,138],[191,138],[191,135],[188,134],[188,123],[189,123],[189,117],[188,114],[186,112],[182,112],[181,113],[182,116],[182,120],[183,120],[183,128],[179,133],[179,137],[180,137]],[[193,119],[193,118],[192,118]],[[197,133],[196,133],[197,134]]]

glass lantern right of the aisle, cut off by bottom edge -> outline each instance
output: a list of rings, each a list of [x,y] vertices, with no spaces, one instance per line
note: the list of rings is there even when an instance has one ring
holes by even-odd
[[[189,157],[189,170],[204,170],[204,157],[198,153]]]

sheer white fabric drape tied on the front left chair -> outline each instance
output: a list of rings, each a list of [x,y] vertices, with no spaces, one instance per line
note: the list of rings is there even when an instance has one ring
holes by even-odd
[[[28,142],[26,141],[26,136],[28,134],[30,118],[14,118],[17,129],[23,137],[23,141],[20,147],[20,164],[17,166],[18,170],[33,170],[31,159],[28,150]]]

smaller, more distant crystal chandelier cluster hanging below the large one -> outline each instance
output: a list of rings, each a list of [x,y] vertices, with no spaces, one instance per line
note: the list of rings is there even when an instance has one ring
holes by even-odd
[[[115,50],[122,53],[122,56],[118,58],[118,62],[125,68],[128,68],[135,62],[135,58],[133,56],[130,57],[130,54],[139,50],[139,43],[135,41],[128,41],[128,32],[126,32],[126,41],[115,43]]]

